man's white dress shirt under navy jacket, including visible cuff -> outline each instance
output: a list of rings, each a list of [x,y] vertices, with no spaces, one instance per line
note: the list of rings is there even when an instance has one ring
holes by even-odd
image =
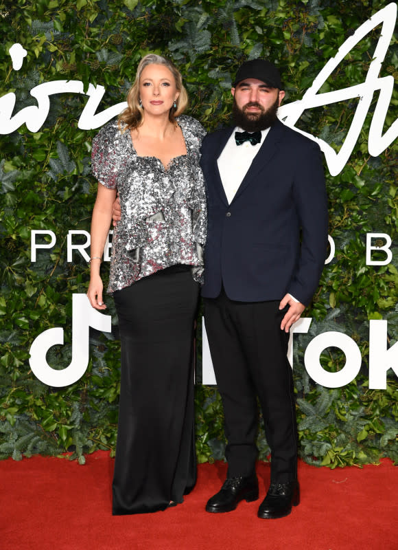
[[[231,137],[226,142],[220,157],[217,159],[222,186],[224,187],[226,199],[229,204],[231,204],[233,197],[235,197],[246,172],[250,168],[253,159],[259,152],[260,147],[264,143],[270,129],[266,128],[265,130],[261,130],[261,142],[255,145],[252,145],[250,142],[244,142],[237,145],[235,142],[235,132],[243,131],[244,130],[238,126],[234,129],[231,133]],[[299,302],[299,300],[296,300],[292,294],[289,294],[289,296],[292,297],[294,302]]]

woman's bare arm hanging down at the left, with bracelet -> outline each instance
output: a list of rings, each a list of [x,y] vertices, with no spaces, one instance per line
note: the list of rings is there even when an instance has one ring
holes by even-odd
[[[97,199],[91,218],[90,285],[87,296],[95,309],[106,309],[102,300],[103,285],[100,277],[100,265],[112,219],[112,205],[116,192],[116,189],[108,189],[98,184]]]

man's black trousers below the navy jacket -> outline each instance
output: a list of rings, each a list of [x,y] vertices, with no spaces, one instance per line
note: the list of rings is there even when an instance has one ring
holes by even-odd
[[[204,298],[204,322],[225,416],[228,475],[248,476],[257,458],[257,399],[271,448],[271,481],[296,478],[297,428],[289,334],[281,331],[287,309],[279,300],[237,302],[222,289]]]

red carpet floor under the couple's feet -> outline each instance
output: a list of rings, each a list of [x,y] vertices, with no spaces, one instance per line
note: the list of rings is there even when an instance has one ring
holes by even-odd
[[[0,461],[0,547],[8,550],[397,550],[398,468],[389,460],[362,470],[299,463],[301,504],[279,520],[260,520],[269,465],[259,463],[261,500],[229,514],[204,504],[226,465],[203,464],[185,503],[156,514],[110,514],[113,461],[34,456]]]

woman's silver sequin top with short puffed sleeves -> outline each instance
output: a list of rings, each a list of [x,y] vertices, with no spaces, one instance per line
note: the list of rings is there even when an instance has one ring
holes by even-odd
[[[177,119],[187,155],[174,157],[167,169],[156,157],[139,157],[130,131],[108,122],[93,140],[93,174],[117,188],[121,220],[112,241],[108,292],[178,263],[194,266],[202,283],[206,240],[206,197],[199,166],[202,125],[186,115]]]

